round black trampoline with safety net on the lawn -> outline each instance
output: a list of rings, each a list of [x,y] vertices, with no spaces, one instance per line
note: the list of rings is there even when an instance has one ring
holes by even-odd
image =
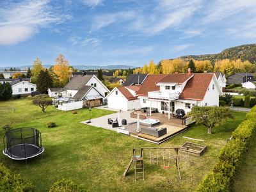
[[[44,152],[41,133],[31,127],[12,129],[5,133],[3,154],[15,160],[26,160]],[[6,148],[5,148],[6,146]],[[43,154],[42,154],[43,159]]]

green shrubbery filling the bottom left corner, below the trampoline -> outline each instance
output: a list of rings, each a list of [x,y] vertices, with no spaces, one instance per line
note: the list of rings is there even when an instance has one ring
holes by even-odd
[[[35,186],[20,179],[19,174],[13,174],[0,163],[0,191],[35,191]]]

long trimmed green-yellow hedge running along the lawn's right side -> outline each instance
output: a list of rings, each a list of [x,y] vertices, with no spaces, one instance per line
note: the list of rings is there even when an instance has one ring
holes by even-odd
[[[218,163],[198,186],[197,192],[234,190],[234,178],[256,131],[255,116],[256,106],[246,114],[244,121],[232,132],[232,140],[223,147],[218,156]]]

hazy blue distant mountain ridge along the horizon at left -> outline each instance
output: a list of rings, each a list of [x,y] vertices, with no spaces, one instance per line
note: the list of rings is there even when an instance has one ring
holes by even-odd
[[[15,68],[20,68],[21,70],[28,69],[29,67],[32,68],[33,65],[23,65],[23,66],[16,66]],[[0,71],[9,70],[10,67],[0,67]],[[50,68],[51,65],[43,65],[44,68]],[[111,70],[111,69],[128,69],[128,68],[136,68],[134,66],[130,65],[108,65],[108,66],[100,66],[100,65],[72,65],[72,67],[78,69],[78,70]],[[14,67],[12,67],[14,68]]]

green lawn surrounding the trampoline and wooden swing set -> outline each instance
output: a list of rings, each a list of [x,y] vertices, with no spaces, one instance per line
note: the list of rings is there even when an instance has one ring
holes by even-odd
[[[23,108],[23,113],[41,115],[40,108],[33,108],[26,99],[23,102],[27,104],[23,104],[20,100],[19,104],[23,107],[17,104],[17,100],[13,102],[18,106],[17,114],[18,109]],[[5,102],[0,102],[0,107],[3,105],[6,105]],[[46,111],[57,110],[51,108],[47,108]],[[0,156],[0,161],[13,172],[20,173],[22,178],[32,182],[36,186],[36,191],[49,191],[54,182],[63,178],[72,179],[78,185],[84,184],[90,191],[195,191],[205,175],[211,172],[221,148],[225,146],[232,131],[246,115],[234,111],[236,120],[228,120],[227,124],[212,128],[212,134],[207,134],[206,127],[195,125],[161,145],[156,145],[115,131],[81,124],[79,122],[89,118],[88,109],[76,111],[76,115],[68,111],[68,113],[40,116],[35,120],[13,124],[13,128],[34,127],[42,132],[44,159],[42,160],[41,156],[28,159],[28,167],[24,161],[13,161],[12,166],[8,157],[4,162],[4,155]],[[95,118],[109,113],[113,112],[93,109],[91,115]],[[57,127],[47,128],[46,122],[50,120],[56,122]],[[2,132],[1,136],[3,137]],[[170,154],[170,168],[163,167],[162,150],[158,150],[159,166],[156,165],[156,150],[152,150],[150,166],[150,150],[145,150],[145,181],[134,182],[132,166],[127,177],[123,177],[124,170],[132,157],[133,147],[180,147],[182,136],[205,140],[207,150],[201,157],[187,154],[187,170],[182,171],[181,168],[181,180],[175,167],[174,150],[171,150]],[[3,148],[3,143],[0,143],[0,147]],[[168,150],[164,151],[164,159],[165,165],[168,164]],[[180,166],[182,167],[181,159]]]

